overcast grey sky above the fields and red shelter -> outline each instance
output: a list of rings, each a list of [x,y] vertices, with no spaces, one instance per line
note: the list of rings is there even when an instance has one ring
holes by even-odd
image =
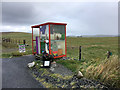
[[[117,35],[117,2],[4,2],[3,32],[31,32],[31,25],[67,23],[67,35]]]

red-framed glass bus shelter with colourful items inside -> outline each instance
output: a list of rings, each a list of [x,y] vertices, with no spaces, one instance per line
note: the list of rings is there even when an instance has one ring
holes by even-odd
[[[55,58],[66,56],[65,23],[44,23],[32,26],[33,54],[46,53]]]

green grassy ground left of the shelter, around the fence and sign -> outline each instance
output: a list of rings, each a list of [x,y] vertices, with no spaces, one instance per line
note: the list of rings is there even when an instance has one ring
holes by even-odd
[[[2,38],[10,38],[14,40],[21,40],[21,44],[23,40],[26,40],[26,52],[19,53],[19,44],[17,43],[6,43],[2,42],[2,58],[9,57],[18,57],[23,55],[32,54],[32,35],[31,33],[21,33],[21,32],[10,32],[10,33],[2,33]]]

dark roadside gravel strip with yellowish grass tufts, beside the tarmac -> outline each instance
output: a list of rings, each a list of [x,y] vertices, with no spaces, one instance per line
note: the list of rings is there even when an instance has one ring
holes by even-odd
[[[33,67],[31,70],[36,80],[39,81],[43,79],[42,83],[47,83],[46,85],[52,85],[50,86],[50,88],[109,89],[107,86],[103,85],[98,81],[89,80],[86,78],[78,79],[75,75],[73,75],[73,73],[70,70],[68,70],[66,67],[60,64],[57,64],[53,71],[51,71],[49,68],[37,69],[36,67]],[[58,76],[53,77],[54,74],[57,74]],[[61,78],[61,76],[59,75],[62,75],[63,77],[68,75],[73,76],[69,79],[64,79]]]

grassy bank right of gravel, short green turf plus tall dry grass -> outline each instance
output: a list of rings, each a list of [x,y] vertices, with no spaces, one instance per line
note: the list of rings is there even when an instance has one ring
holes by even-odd
[[[62,60],[57,61],[69,68],[73,72],[80,70],[84,77],[100,81],[111,87],[120,88],[120,78],[119,78],[119,61],[118,56],[113,55],[109,59],[92,59],[87,62],[85,60]]]

